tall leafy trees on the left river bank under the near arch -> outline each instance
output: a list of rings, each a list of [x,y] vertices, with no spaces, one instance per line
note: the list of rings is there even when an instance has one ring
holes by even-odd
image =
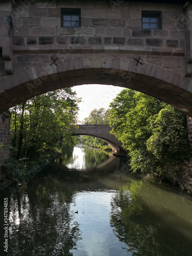
[[[79,101],[76,93],[66,88],[35,96],[10,109],[12,151],[4,169],[10,170],[12,178],[20,178],[66,145],[76,144],[77,138],[70,136],[69,130],[76,122]]]

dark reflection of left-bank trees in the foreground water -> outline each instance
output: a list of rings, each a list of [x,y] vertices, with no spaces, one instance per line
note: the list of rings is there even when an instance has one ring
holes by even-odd
[[[59,189],[48,179],[26,189],[10,200],[10,255],[72,255],[81,239],[70,210],[73,189]]]

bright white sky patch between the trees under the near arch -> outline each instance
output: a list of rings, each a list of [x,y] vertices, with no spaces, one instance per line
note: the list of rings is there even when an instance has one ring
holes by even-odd
[[[72,88],[76,91],[77,97],[82,98],[79,103],[78,119],[83,121],[93,109],[108,109],[110,102],[124,88],[106,86],[101,84],[84,84]]]

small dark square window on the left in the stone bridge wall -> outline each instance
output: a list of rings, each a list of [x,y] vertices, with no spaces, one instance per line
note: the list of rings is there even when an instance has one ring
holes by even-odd
[[[79,8],[61,8],[61,27],[80,27]]]

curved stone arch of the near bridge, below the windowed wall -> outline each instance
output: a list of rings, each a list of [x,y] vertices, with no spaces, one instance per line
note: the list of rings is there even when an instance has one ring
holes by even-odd
[[[110,53],[110,52],[109,52]],[[60,54],[52,62],[26,68],[0,81],[0,113],[16,103],[55,89],[111,84],[134,89],[174,105],[192,116],[192,80],[128,54]]]

